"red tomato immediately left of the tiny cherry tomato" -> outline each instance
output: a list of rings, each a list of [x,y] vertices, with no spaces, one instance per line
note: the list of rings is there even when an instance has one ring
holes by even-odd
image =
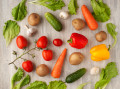
[[[41,36],[37,41],[37,47],[38,48],[46,48],[48,43],[48,39],[46,36]]]

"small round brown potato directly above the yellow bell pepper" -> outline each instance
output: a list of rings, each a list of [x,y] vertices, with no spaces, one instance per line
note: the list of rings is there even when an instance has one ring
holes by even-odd
[[[98,42],[102,42],[107,39],[107,33],[104,31],[100,31],[96,33],[95,38]]]

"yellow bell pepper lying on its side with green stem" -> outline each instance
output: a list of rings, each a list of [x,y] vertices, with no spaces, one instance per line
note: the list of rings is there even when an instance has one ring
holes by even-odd
[[[90,53],[93,61],[102,61],[110,58],[110,52],[105,44],[92,47]]]

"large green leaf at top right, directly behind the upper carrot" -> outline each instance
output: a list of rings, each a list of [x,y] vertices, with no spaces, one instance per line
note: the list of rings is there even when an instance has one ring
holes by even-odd
[[[91,0],[91,5],[94,11],[92,14],[97,21],[106,22],[110,19],[110,8],[103,0]]]

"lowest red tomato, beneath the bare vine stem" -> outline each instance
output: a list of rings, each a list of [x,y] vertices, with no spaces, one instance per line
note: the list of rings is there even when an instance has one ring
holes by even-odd
[[[29,60],[22,63],[22,67],[25,71],[31,72],[33,70],[33,63]]]

